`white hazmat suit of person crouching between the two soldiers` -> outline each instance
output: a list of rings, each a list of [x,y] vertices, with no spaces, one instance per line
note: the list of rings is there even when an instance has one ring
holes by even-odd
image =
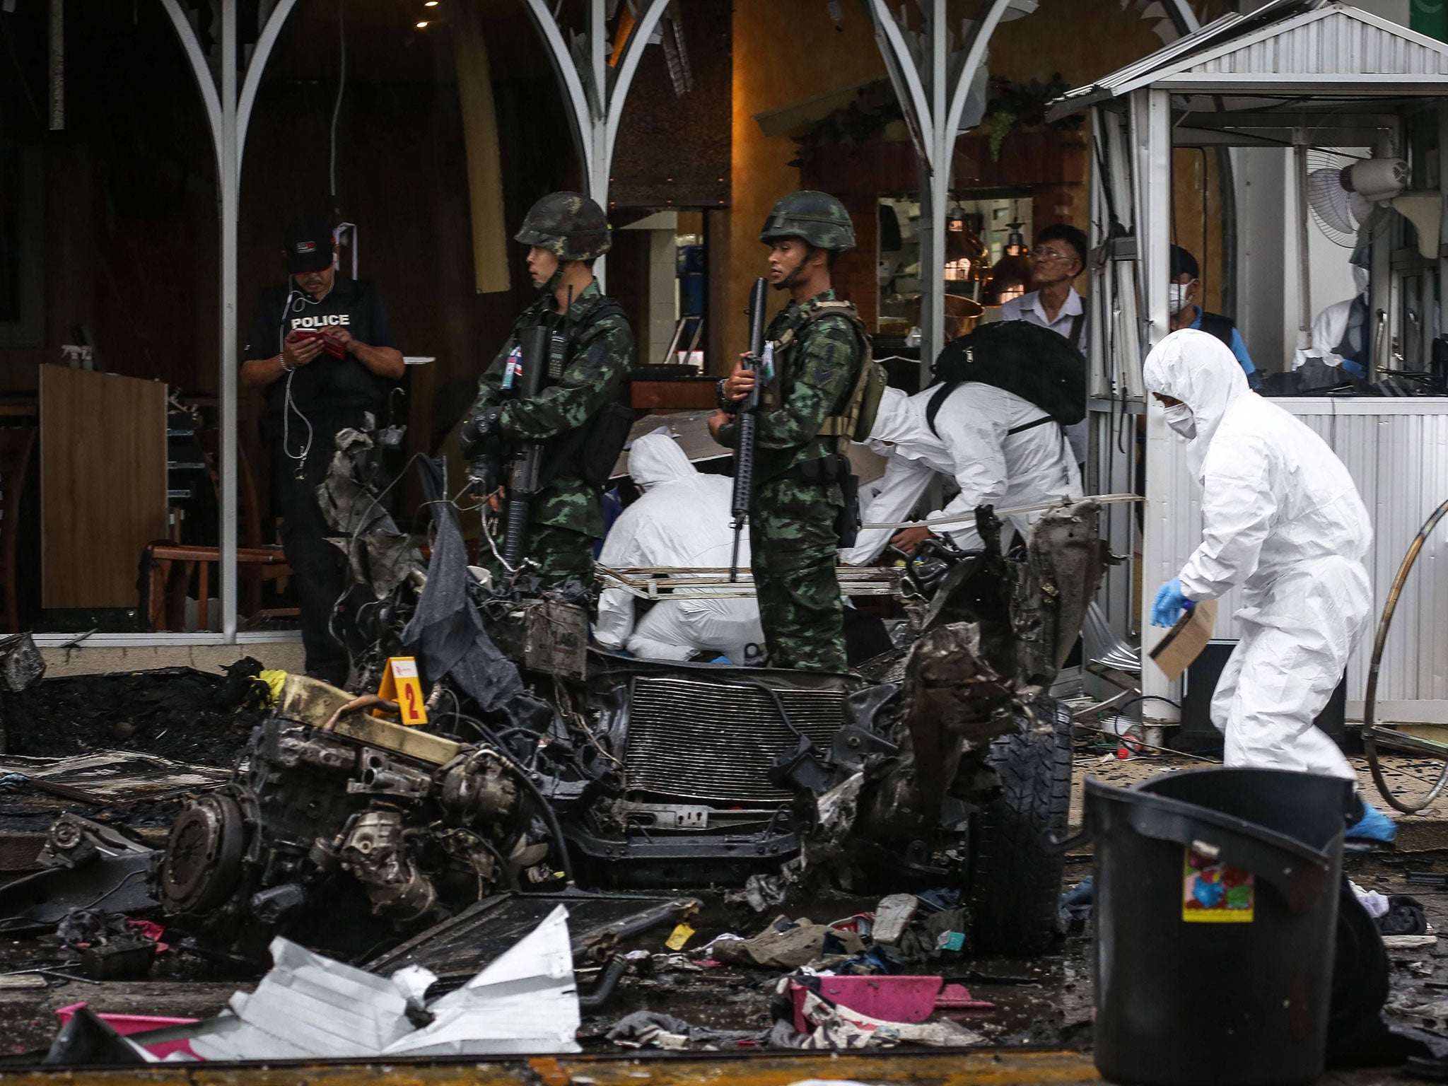
[[[730,563],[733,481],[701,475],[670,436],[650,433],[628,453],[628,473],[643,497],[626,508],[604,539],[598,563],[614,569],[676,566],[720,569]],[[749,569],[749,536],[738,563]],[[705,591],[705,589],[696,589]],[[634,597],[608,588],[598,599],[594,640],[646,660],[688,660],[707,650],[744,663],[746,646],[763,644],[753,598],[663,599],[634,621]]]

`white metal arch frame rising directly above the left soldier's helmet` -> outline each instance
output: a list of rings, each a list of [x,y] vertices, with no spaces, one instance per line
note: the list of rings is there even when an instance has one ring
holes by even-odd
[[[649,45],[669,0],[643,0],[634,28],[628,35],[618,67],[610,70],[608,20],[605,0],[588,0],[588,29],[579,35],[584,55],[578,56],[563,36],[547,0],[526,0],[529,14],[547,45],[553,70],[563,90],[573,145],[584,167],[586,195],[608,211],[608,175],[618,140],[618,123],[639,61]],[[604,261],[594,265],[599,285],[604,282]]]

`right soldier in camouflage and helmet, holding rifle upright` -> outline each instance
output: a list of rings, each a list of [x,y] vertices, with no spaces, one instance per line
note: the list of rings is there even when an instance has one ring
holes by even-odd
[[[759,614],[772,666],[843,672],[844,601],[834,563],[844,469],[828,423],[856,388],[866,345],[830,269],[854,248],[854,226],[833,195],[792,193],[775,204],[759,240],[769,246],[769,281],[791,297],[767,330],[775,376],[756,426],[749,530]],[[753,387],[743,365],[724,381],[721,410],[710,418],[721,445],[736,443],[733,411]]]

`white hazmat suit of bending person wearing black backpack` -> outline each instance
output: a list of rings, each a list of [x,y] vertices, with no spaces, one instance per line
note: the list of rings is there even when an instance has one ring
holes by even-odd
[[[937,530],[950,536],[964,550],[982,546],[973,513],[979,505],[1016,508],[1082,497],[1076,458],[1054,421],[1030,426],[1045,417],[1035,404],[1003,388],[967,381],[946,397],[931,432],[925,408],[938,385],[880,403],[869,445],[889,458],[876,494],[862,520],[866,524],[896,524],[906,520],[925,494],[935,472],[950,475],[960,487],[946,508],[927,520],[961,515],[957,524]],[[1016,427],[1018,433],[1011,433]],[[1011,517],[1022,536],[1040,513]],[[895,530],[873,529],[860,533],[856,546],[841,552],[847,565],[866,565],[879,557]]]

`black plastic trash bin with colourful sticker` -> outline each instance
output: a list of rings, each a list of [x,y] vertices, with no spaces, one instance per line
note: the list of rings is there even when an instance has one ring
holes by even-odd
[[[1322,1074],[1352,785],[1199,769],[1086,782],[1096,1067],[1148,1086]]]

